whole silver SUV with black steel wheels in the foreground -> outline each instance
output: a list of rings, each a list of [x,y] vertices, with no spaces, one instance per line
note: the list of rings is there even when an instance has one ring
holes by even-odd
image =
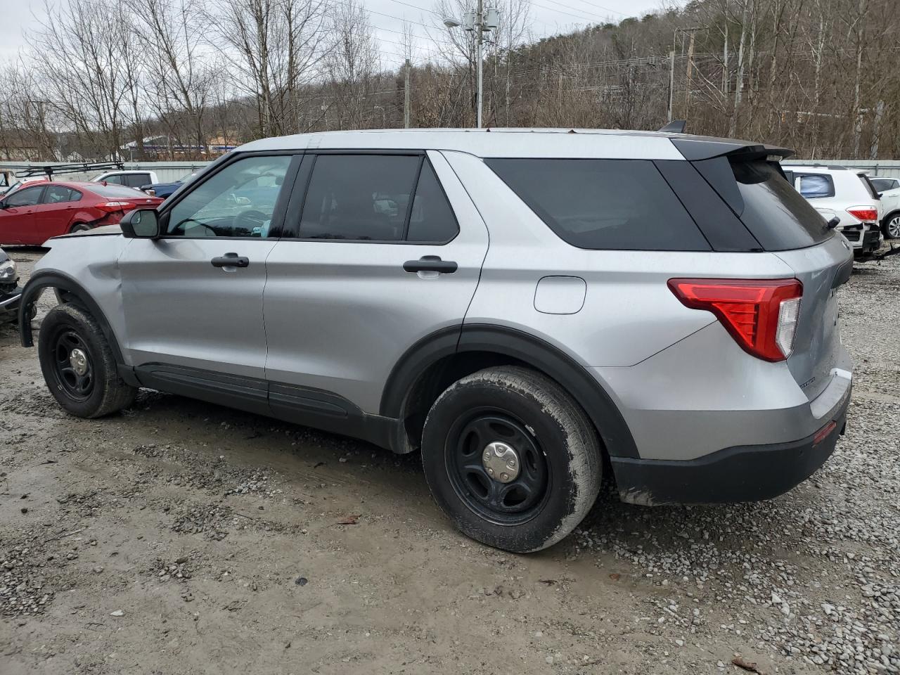
[[[150,387],[420,449],[457,527],[536,551],[604,477],[636,504],[761,500],[833,452],[851,249],[787,154],[596,130],[258,140],[121,232],[53,239],[21,311],[56,290],[38,354],[77,416]]]

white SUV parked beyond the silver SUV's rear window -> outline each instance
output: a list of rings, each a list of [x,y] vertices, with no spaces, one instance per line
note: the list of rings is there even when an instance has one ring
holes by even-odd
[[[878,190],[862,170],[843,166],[783,166],[788,181],[864,256],[881,246],[883,215]]]

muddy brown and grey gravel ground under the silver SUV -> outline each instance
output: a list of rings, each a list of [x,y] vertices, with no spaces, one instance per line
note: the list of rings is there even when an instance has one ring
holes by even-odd
[[[531,555],[458,534],[418,455],[150,391],[72,418],[0,328],[0,673],[900,672],[900,256],[841,302],[854,398],[810,481],[607,490]]]

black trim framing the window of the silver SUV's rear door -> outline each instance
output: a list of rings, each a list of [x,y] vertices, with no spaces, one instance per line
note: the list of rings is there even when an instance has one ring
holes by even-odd
[[[297,174],[296,183],[293,186],[291,202],[288,205],[287,212],[290,215],[290,222],[287,221],[287,216],[285,216],[284,222],[284,234],[279,241],[304,241],[310,243],[317,244],[392,244],[394,246],[446,246],[450,242],[454,241],[455,238],[459,237],[460,234],[460,226],[459,219],[456,217],[456,211],[453,208],[453,203],[450,202],[450,199],[447,197],[446,190],[444,189],[444,184],[441,183],[440,176],[437,175],[437,171],[435,171],[435,166],[431,164],[431,160],[428,159],[428,150],[409,150],[409,149],[382,149],[382,148],[365,148],[365,149],[347,149],[347,148],[328,148],[328,149],[310,149],[306,152],[306,155],[312,157],[312,161],[309,163],[304,162],[304,166],[302,170]],[[416,179],[412,184],[412,191],[410,192],[410,201],[407,203],[407,211],[406,211],[406,220],[403,223],[403,238],[401,239],[327,239],[327,238],[315,238],[315,237],[300,237],[300,222],[302,220],[303,209],[306,207],[306,195],[310,191],[310,183],[312,180],[312,172],[316,166],[316,157],[320,155],[390,155],[390,156],[406,156],[406,157],[422,157],[421,161],[419,161],[419,168],[416,171]],[[435,180],[437,181],[438,187],[441,189],[441,193],[444,195],[444,199],[447,203],[447,206],[450,207],[450,212],[453,214],[454,220],[456,222],[456,231],[453,237],[446,239],[446,241],[408,241],[407,237],[409,236],[410,231],[410,215],[412,213],[412,204],[416,198],[416,191],[419,189],[419,178],[422,174],[422,167],[425,166],[425,163],[428,162],[428,166],[431,167],[431,171],[435,175]],[[298,192],[299,191],[299,192]]]

